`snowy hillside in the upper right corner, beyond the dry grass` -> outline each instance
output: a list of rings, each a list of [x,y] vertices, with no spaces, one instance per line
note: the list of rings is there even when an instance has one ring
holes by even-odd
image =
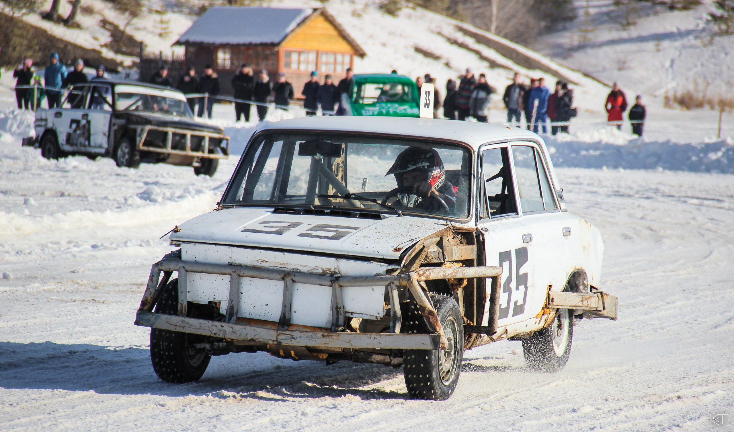
[[[567,29],[542,37],[537,48],[605,82],[619,82],[628,96],[707,88],[711,96],[722,90],[730,93],[734,35],[714,36],[708,21],[712,0],[693,10],[633,2],[636,24],[631,26],[620,24],[624,14],[612,3],[577,0],[578,19]]]

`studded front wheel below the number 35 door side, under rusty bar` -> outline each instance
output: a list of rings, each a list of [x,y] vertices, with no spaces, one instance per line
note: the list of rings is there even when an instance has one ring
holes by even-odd
[[[464,320],[456,300],[432,295],[431,300],[443,325],[447,350],[405,350],[403,373],[410,397],[446,400],[454,393],[464,358]],[[403,309],[406,328],[402,333],[427,333],[426,323],[415,303]]]

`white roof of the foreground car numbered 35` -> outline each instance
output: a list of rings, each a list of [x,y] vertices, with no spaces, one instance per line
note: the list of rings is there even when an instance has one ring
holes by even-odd
[[[518,127],[437,118],[370,117],[327,115],[302,117],[267,123],[259,130],[327,130],[334,132],[363,132],[435,138],[467,143],[479,148],[484,143],[502,140],[531,140],[545,145],[537,134]]]

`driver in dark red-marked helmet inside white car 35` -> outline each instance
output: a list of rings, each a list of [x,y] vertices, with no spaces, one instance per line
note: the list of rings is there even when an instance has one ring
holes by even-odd
[[[385,176],[390,174],[398,184],[397,202],[404,208],[446,213],[448,207],[448,214],[456,213],[459,188],[446,180],[443,161],[435,149],[406,148]]]

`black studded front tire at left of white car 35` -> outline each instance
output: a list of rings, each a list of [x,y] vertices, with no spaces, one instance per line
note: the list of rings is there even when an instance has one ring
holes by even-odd
[[[178,278],[164,288],[156,312],[178,314]],[[204,375],[211,355],[194,344],[205,342],[206,336],[181,333],[180,331],[150,329],[150,361],[161,380],[173,384],[197,381]]]

